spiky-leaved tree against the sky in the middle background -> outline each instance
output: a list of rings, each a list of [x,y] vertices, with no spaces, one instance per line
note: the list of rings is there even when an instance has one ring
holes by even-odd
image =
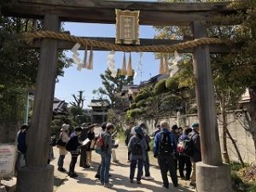
[[[111,104],[111,108],[114,108],[117,93],[120,92],[124,85],[133,84],[133,76],[126,77],[123,75],[117,75],[116,78],[111,76],[109,69],[101,74],[103,87],[99,88],[99,92],[108,96]]]

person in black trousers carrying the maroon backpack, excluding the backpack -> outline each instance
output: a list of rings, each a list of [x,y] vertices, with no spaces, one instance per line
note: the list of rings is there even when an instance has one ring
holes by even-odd
[[[186,140],[189,141],[189,133],[192,131],[190,127],[185,128],[184,133],[181,137],[178,138],[178,143],[184,143]],[[191,160],[190,157],[186,154],[183,154],[182,151],[178,152],[178,171],[182,179],[189,180],[191,174]],[[186,165],[186,177],[184,176],[184,166]]]

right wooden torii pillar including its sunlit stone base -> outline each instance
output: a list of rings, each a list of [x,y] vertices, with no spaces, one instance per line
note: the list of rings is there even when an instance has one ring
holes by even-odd
[[[192,28],[195,38],[207,37],[204,23],[194,21]],[[196,189],[198,192],[232,191],[230,168],[221,158],[208,45],[195,48],[193,65],[202,155],[202,161],[196,164]]]

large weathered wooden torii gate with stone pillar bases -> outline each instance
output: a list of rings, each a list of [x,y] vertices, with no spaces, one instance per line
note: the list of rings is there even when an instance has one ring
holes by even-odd
[[[115,23],[115,9],[140,10],[140,25],[192,26],[194,37],[207,37],[203,25],[216,15],[231,15],[230,3],[142,3],[95,0],[18,0],[3,7],[4,15],[44,18],[44,30],[60,32],[61,21]],[[98,38],[100,39],[100,38]],[[104,38],[113,42],[113,38]],[[177,44],[173,40],[142,39],[141,44]],[[46,164],[52,104],[55,92],[57,49],[71,49],[72,43],[44,38],[31,48],[40,47],[40,61],[31,129],[28,131],[27,166],[18,171],[18,192],[52,192],[54,167]],[[118,50],[118,49],[117,49]],[[150,51],[150,50],[149,50]],[[201,125],[202,162],[197,164],[197,191],[232,191],[229,166],[222,164],[218,124],[214,106],[210,52],[228,52],[224,45],[200,45],[184,49],[193,53],[198,116]]]

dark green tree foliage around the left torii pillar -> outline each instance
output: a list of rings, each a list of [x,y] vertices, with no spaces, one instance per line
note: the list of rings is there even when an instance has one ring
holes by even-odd
[[[15,1],[0,1],[0,9],[5,3]],[[41,28],[41,20],[4,17],[0,12],[0,116],[4,121],[22,119],[26,91],[35,88],[38,73],[39,50],[23,48],[24,43],[15,35]],[[68,65],[64,52],[60,51],[57,75],[63,75],[62,68]],[[16,94],[17,91],[20,93]],[[18,115],[14,115],[14,109]]]

